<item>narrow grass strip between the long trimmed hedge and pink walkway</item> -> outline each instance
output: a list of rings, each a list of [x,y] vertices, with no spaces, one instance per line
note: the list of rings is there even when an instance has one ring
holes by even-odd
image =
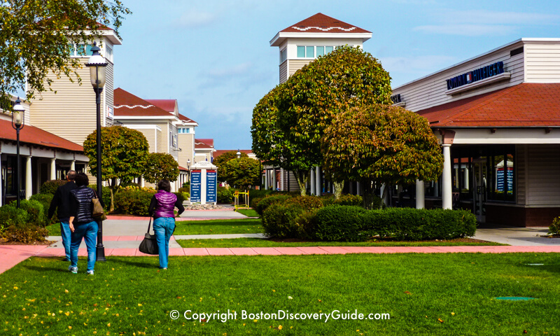
[[[479,246],[505,245],[498,243],[474,243],[455,241],[298,241],[284,242],[258,238],[237,239],[179,239],[183,247],[290,247],[290,246]]]

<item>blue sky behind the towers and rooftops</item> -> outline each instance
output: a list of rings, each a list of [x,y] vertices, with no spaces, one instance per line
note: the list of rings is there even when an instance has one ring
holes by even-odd
[[[253,107],[278,84],[274,35],[316,13],[372,31],[396,87],[521,37],[560,37],[560,1],[125,0],[115,87],[178,99],[216,149],[251,148]]]

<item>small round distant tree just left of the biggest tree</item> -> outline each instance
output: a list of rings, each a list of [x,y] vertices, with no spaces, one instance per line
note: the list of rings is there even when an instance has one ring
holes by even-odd
[[[260,183],[260,163],[258,160],[236,158],[226,162],[222,169],[222,176],[230,186],[248,188],[249,186],[257,186]]]

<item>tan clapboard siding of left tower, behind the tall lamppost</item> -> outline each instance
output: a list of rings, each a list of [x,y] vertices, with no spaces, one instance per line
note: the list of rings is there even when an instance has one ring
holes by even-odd
[[[82,64],[87,62],[87,58],[80,60]],[[76,76],[73,76],[72,83],[65,76],[56,78],[52,73],[48,75],[53,80],[51,88],[56,93],[46,91],[37,94],[31,104],[31,120],[35,127],[83,145],[87,135],[96,127],[95,92],[90,83],[89,69],[83,66],[77,72],[82,78],[82,85],[78,85]],[[41,97],[43,100],[40,100]]]

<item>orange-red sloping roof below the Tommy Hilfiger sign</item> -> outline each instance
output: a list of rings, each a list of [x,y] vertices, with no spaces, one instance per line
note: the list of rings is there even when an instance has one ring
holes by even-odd
[[[560,83],[521,83],[416,113],[431,127],[558,127]]]

